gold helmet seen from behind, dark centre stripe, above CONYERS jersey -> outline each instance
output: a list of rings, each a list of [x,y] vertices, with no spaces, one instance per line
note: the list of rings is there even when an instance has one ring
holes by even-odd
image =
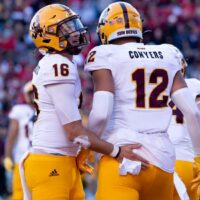
[[[102,44],[124,37],[142,39],[140,14],[129,3],[112,3],[101,13],[97,33]]]

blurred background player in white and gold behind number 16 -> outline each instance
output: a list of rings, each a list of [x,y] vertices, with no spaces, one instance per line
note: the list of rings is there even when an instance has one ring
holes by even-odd
[[[19,176],[19,160],[31,145],[31,133],[34,116],[31,95],[33,92],[31,81],[24,86],[24,99],[26,104],[13,106],[9,113],[10,123],[5,143],[4,167],[13,172],[12,199],[22,200],[23,192]]]

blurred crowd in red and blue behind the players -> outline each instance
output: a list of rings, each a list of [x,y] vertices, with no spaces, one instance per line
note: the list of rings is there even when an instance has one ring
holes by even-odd
[[[8,112],[23,101],[24,83],[32,77],[32,71],[40,56],[29,37],[29,23],[33,14],[51,3],[62,3],[82,18],[89,28],[91,43],[75,59],[83,89],[83,113],[88,114],[92,100],[90,76],[83,72],[88,51],[98,45],[96,26],[101,11],[113,0],[0,0],[0,163],[8,127]],[[144,43],[170,43],[177,46],[189,64],[188,77],[200,79],[200,1],[199,0],[127,0],[144,19]],[[1,166],[1,164],[0,164]],[[2,176],[2,173],[0,173]],[[6,192],[1,183],[0,195]]]

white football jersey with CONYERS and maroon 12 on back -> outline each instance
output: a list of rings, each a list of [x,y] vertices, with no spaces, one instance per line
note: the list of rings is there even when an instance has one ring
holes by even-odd
[[[101,45],[90,51],[86,71],[109,69],[115,84],[114,108],[102,138],[115,143],[140,142],[138,153],[172,172],[174,151],[167,136],[171,118],[168,99],[181,69],[172,45]]]

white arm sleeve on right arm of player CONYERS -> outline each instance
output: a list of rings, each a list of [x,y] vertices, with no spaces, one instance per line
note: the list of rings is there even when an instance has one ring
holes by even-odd
[[[181,88],[172,94],[172,101],[183,113],[194,151],[200,155],[200,112],[188,88]]]

